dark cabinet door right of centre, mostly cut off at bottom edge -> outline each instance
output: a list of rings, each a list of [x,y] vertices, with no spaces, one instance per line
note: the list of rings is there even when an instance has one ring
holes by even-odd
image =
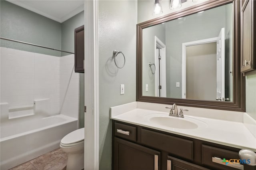
[[[168,156],[167,158],[167,170],[209,170],[202,166],[191,164],[184,160]]]

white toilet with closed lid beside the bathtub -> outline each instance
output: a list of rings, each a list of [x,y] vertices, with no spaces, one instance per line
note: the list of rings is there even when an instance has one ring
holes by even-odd
[[[70,132],[60,141],[60,148],[68,154],[66,170],[84,168],[84,128]]]

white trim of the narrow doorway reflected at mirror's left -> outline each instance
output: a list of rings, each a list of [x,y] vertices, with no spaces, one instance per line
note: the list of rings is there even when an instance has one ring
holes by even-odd
[[[158,55],[156,55],[158,52],[156,51],[156,47],[160,48],[161,51],[161,63],[166,63],[166,45],[159,39],[157,38],[157,36],[155,36],[155,42],[154,42],[154,51],[155,51],[155,67],[156,67],[156,71],[155,71],[155,96],[158,96],[159,93],[159,89],[158,89],[158,79],[159,79],[159,65],[158,65]],[[166,97],[166,64],[161,65],[161,77],[160,77],[160,81],[161,81],[161,97]]]

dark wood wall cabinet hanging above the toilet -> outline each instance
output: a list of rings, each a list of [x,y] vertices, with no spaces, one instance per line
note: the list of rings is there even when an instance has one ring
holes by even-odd
[[[84,73],[84,26],[75,29],[75,72]]]

